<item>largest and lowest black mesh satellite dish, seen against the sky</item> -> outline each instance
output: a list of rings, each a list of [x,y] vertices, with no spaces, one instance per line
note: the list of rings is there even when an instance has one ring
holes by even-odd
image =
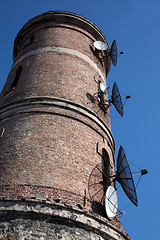
[[[122,146],[120,146],[118,152],[117,172],[115,180],[117,180],[121,184],[121,187],[125,194],[127,195],[127,197],[131,200],[131,202],[135,206],[137,206],[138,200],[136,188],[132,177],[132,172],[129,166],[129,162]]]

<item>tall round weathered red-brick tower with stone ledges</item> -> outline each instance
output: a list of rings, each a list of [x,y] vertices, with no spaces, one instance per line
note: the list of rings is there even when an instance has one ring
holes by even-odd
[[[96,40],[108,45],[92,22],[61,11],[31,19],[15,39],[0,95],[0,239],[130,239],[88,189],[97,164],[107,186],[114,172],[98,92],[111,60]]]

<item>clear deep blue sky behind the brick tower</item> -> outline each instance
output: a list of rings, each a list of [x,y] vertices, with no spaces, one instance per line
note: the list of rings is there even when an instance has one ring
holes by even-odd
[[[110,45],[116,39],[118,49],[124,51],[107,78],[108,85],[116,81],[122,92],[132,96],[125,105],[123,118],[110,109],[115,155],[122,145],[128,159],[140,168],[147,168],[149,174],[137,189],[137,208],[118,188],[119,207],[126,212],[120,220],[134,240],[159,239],[160,2],[1,0],[0,90],[12,66],[18,31],[29,19],[49,10],[70,11],[88,18],[101,29]]]

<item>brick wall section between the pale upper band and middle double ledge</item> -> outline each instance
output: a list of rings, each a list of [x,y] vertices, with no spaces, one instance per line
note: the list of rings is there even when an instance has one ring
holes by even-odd
[[[75,101],[98,112],[97,103],[92,103],[87,98],[87,94],[93,96],[97,93],[98,85],[94,78],[97,81],[100,78],[84,60],[67,54],[47,52],[31,56],[22,64],[18,64],[20,65],[23,66],[23,71],[16,91],[5,95],[1,100],[1,106],[31,96],[54,96]],[[9,88],[18,66],[11,71],[2,93]],[[109,118],[103,111],[99,111],[98,115],[109,125]]]

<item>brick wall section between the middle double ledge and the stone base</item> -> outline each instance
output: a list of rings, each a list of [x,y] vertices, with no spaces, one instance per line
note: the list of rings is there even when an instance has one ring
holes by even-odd
[[[96,144],[103,144],[103,131],[66,109],[56,112],[52,107],[49,112],[45,107],[46,112],[41,112],[29,108],[27,112],[25,108],[25,113],[22,109],[20,115],[1,121],[5,128],[0,148],[1,182],[56,186],[83,196],[92,169],[101,162]],[[106,149],[113,159],[113,150],[107,144]]]

